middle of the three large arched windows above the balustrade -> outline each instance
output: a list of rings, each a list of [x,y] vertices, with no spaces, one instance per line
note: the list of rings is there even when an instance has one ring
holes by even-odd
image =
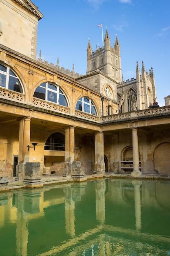
[[[35,90],[33,97],[68,107],[64,93],[56,84],[53,85],[48,82],[40,84]]]

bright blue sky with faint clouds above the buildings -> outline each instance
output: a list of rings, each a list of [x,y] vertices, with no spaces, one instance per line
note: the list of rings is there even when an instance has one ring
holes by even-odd
[[[170,94],[170,0],[32,0],[44,15],[38,25],[37,57],[60,67],[86,74],[86,49],[102,47],[108,29],[110,44],[121,47],[124,81],[153,67],[160,106]]]

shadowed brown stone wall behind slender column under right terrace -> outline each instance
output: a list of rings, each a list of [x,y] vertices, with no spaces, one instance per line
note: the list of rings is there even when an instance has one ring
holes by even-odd
[[[124,159],[123,152],[128,148],[126,159],[132,158],[132,135],[120,133],[104,137],[104,154],[108,159],[108,171],[119,172]],[[170,130],[138,130],[139,159],[142,173],[170,173]]]

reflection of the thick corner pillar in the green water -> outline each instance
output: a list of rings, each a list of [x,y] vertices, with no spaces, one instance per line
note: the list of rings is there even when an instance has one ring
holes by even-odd
[[[96,219],[102,223],[105,221],[105,190],[106,190],[106,181],[97,180],[95,182]]]

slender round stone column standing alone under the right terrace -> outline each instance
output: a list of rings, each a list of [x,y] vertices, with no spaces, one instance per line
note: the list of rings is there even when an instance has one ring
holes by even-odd
[[[141,176],[141,171],[139,170],[139,147],[138,147],[137,127],[132,128],[132,150],[133,150],[133,171],[131,175]]]

